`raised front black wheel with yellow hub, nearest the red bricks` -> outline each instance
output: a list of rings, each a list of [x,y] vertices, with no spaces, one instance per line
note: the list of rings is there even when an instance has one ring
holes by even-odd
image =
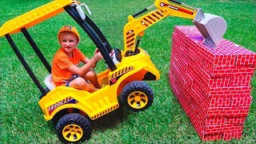
[[[154,94],[146,82],[134,81],[124,87],[120,100],[126,109],[138,112],[152,105]]]

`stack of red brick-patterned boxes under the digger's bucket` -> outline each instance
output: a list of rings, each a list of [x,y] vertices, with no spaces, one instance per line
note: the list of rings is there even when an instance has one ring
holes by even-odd
[[[222,38],[208,48],[195,26],[175,26],[170,86],[202,140],[241,138],[256,53]]]

